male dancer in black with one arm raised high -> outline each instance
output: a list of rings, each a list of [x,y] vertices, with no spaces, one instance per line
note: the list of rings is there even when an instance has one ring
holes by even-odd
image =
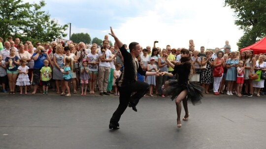
[[[132,42],[129,45],[130,52],[128,52],[123,45],[123,43],[116,37],[113,32],[112,27],[111,36],[114,37],[115,43],[119,47],[123,57],[124,57],[124,70],[123,73],[119,77],[119,81],[117,81],[118,91],[120,93],[119,97],[119,105],[116,111],[114,112],[109,128],[110,129],[119,129],[119,120],[121,115],[126,110],[127,106],[132,107],[134,111],[137,111],[136,104],[139,99],[142,98],[148,91],[149,85],[146,82],[136,81],[137,72],[141,75],[164,75],[165,73],[157,72],[146,72],[143,71],[140,67],[136,56],[140,53],[140,45],[136,42]],[[132,92],[136,92],[133,96],[131,96]]]

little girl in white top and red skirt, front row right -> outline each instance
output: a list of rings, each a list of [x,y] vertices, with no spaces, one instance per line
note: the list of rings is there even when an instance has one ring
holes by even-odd
[[[244,74],[245,74],[245,67],[243,67],[244,65],[244,62],[243,61],[239,61],[238,62],[238,67],[236,68],[236,71],[237,71],[237,75],[236,75],[236,83],[237,83],[237,97],[242,97],[241,95],[241,90],[242,90],[242,85],[244,83]]]

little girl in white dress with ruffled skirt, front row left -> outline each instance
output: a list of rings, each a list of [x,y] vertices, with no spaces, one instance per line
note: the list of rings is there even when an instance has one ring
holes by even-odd
[[[21,66],[18,67],[19,75],[16,82],[16,85],[20,87],[20,94],[23,92],[23,86],[25,87],[25,94],[27,94],[27,85],[30,84],[30,79],[28,76],[29,67],[26,66],[27,61],[25,59],[21,59]]]

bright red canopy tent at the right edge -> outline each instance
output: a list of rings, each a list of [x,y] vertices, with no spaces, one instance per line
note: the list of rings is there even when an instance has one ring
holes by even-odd
[[[266,37],[258,41],[257,43],[250,45],[246,48],[240,49],[243,50],[253,50],[253,54],[266,53]]]

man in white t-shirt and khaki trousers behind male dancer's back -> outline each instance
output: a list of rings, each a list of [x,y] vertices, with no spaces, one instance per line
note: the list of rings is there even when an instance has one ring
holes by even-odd
[[[98,86],[100,90],[100,95],[110,95],[107,93],[108,77],[110,74],[110,62],[113,60],[112,52],[107,49],[109,45],[108,40],[103,40],[102,49],[98,51],[100,63],[98,72]]]

